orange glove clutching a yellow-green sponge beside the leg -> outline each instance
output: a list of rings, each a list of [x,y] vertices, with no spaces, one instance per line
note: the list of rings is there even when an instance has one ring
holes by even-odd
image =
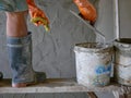
[[[46,30],[49,30],[49,20],[45,12],[36,7],[34,0],[26,0],[28,4],[28,11],[31,15],[31,21],[36,25],[44,25]]]

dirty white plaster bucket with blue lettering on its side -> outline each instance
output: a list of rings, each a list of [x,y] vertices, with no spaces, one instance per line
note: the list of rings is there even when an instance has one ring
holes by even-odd
[[[106,86],[110,83],[114,48],[96,42],[76,44],[74,47],[76,81],[87,87]]]

